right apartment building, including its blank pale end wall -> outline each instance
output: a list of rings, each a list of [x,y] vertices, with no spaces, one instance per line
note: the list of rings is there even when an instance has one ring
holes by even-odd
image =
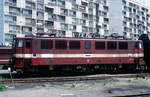
[[[109,0],[110,32],[138,39],[150,35],[150,10],[132,0]]]

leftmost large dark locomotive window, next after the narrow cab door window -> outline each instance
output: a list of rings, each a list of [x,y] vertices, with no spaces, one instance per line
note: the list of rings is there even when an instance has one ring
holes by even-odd
[[[53,41],[52,40],[41,40],[41,49],[52,49]]]

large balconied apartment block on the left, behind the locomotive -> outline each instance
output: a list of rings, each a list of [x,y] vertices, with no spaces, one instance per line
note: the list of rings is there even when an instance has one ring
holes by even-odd
[[[106,0],[1,0],[0,5],[0,42],[6,45],[35,33],[92,37],[109,32]]]

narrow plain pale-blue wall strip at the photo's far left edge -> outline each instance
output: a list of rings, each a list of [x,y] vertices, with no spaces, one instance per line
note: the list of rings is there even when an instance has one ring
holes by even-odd
[[[4,25],[3,25],[3,0],[0,0],[0,45],[4,43]]]

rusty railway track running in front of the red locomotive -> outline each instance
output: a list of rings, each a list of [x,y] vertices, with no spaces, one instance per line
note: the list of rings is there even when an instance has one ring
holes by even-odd
[[[101,80],[113,78],[137,78],[150,77],[150,73],[141,74],[118,74],[118,75],[91,75],[91,76],[76,76],[76,77],[49,77],[49,78],[23,78],[13,79],[14,83],[41,83],[41,82],[63,82],[63,81],[85,81],[85,80]],[[11,79],[2,79],[0,83],[11,83]]]

